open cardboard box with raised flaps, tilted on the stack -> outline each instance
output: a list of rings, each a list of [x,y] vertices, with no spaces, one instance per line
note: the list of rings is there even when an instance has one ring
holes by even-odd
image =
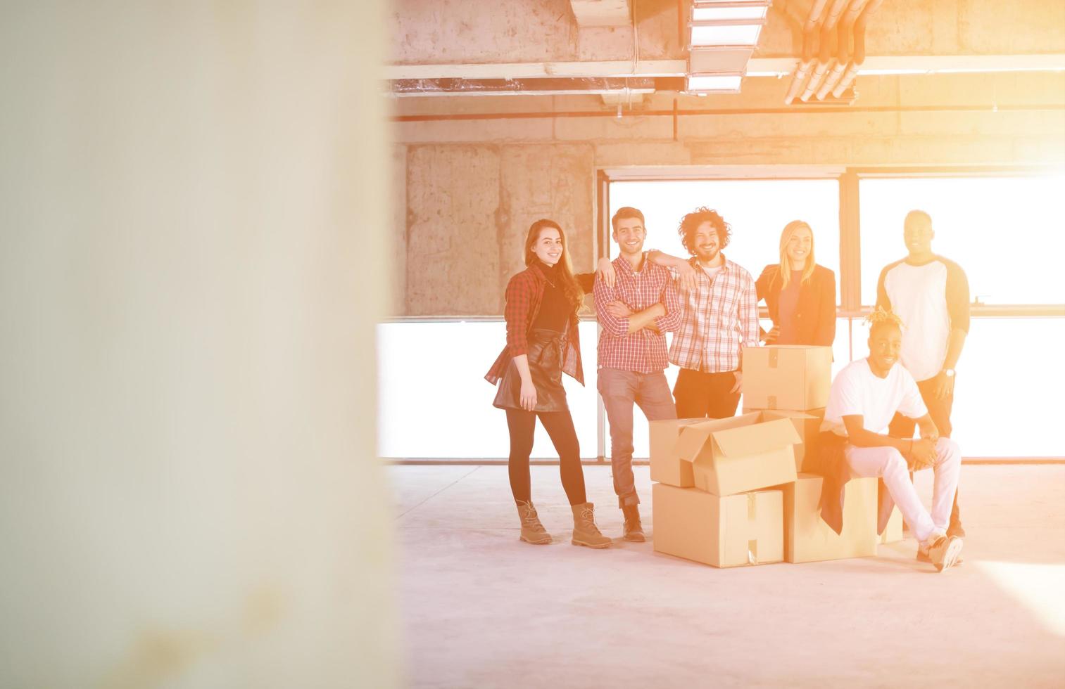
[[[794,481],[799,441],[790,419],[763,422],[755,411],[682,427],[676,453],[691,463],[695,488],[733,495]]]

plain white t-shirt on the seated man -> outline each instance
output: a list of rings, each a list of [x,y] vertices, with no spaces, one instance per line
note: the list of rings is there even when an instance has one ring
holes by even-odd
[[[914,376],[896,364],[887,377],[879,377],[869,369],[869,359],[858,359],[848,364],[832,382],[821,431],[846,436],[843,417],[861,415],[866,431],[883,433],[896,411],[911,419],[929,413]]]

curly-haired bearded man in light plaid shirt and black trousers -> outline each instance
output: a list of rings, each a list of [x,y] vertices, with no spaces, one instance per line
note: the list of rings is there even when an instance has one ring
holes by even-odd
[[[743,347],[758,344],[757,290],[751,273],[721,253],[732,228],[717,211],[687,214],[677,234],[688,261],[652,252],[653,261],[677,271],[684,290],[669,350],[669,360],[681,367],[673,387],[676,413],[682,419],[723,419],[739,405]]]

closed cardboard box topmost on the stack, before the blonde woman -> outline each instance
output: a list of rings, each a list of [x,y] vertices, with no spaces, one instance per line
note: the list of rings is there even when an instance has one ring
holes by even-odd
[[[805,411],[829,404],[832,348],[743,348],[743,407]]]

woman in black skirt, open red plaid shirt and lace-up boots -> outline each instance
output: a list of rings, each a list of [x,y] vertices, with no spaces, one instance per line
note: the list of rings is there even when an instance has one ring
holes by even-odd
[[[550,543],[532,506],[529,454],[540,419],[558,452],[562,488],[573,509],[574,545],[607,548],[585,494],[580,447],[566,403],[562,373],[584,385],[577,309],[584,293],[573,276],[566,234],[554,220],[537,220],[525,238],[527,268],[507,284],[507,346],[485,376],[499,383],[494,406],[507,413],[510,490],[521,519],[521,540]]]

